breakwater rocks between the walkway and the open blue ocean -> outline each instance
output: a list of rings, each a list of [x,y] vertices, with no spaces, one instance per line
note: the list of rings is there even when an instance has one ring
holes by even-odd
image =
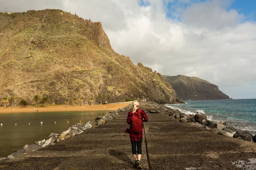
[[[195,114],[188,115],[180,112],[178,109],[172,109],[166,107],[165,105],[159,105],[154,102],[149,102],[149,105],[151,105],[154,108],[157,108],[159,110],[159,113],[166,114],[168,116],[173,116],[181,123],[190,123],[191,125],[195,125],[198,128],[208,130],[211,131],[212,133],[216,133],[219,135],[242,139],[249,142],[256,142],[256,135],[253,136],[247,130],[236,129],[233,125],[230,125],[227,122],[210,121],[207,119],[207,115],[205,113],[197,112]]]

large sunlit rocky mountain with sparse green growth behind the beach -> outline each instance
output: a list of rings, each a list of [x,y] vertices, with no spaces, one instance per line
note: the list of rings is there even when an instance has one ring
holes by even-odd
[[[0,97],[180,102],[159,73],[111,48],[102,24],[61,10],[0,14]],[[17,102],[16,101],[16,102]]]

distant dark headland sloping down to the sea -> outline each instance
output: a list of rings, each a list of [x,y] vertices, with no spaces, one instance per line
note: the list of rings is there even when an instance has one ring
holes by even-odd
[[[222,93],[217,85],[198,77],[162,76],[172,85],[178,98],[183,100],[211,100],[211,99],[230,99],[229,96]]]

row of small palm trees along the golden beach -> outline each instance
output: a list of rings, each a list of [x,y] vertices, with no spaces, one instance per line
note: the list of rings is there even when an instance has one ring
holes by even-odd
[[[103,98],[102,94],[99,94],[99,98],[100,98],[100,104],[102,104],[102,98]],[[12,106],[13,106],[14,100],[15,100],[14,97],[11,97],[11,98],[10,98],[10,101],[12,102]],[[50,100],[49,100],[49,98],[46,97],[46,96],[44,96],[43,98],[40,98],[38,95],[35,95],[35,96],[33,97],[33,101],[35,102],[35,107],[37,107],[37,105],[38,105],[39,103],[42,103],[43,106],[44,106],[44,104],[45,104],[45,107],[46,107],[46,106],[47,106],[47,103],[49,103]],[[76,107],[77,99],[76,99],[76,98],[73,98],[72,101],[73,101],[73,103],[74,103],[74,107]],[[81,101],[81,105],[83,106],[83,104],[84,104],[84,97],[81,97],[80,101]],[[3,102],[3,104],[4,104],[4,108],[6,108],[6,103],[9,102],[9,99],[8,99],[7,97],[3,97],[2,102]],[[94,98],[91,97],[91,98],[90,98],[90,103],[91,103],[91,105],[93,105],[93,102],[94,102]],[[69,99],[66,99],[66,100],[65,100],[65,104],[66,104],[67,107],[68,107]],[[19,105],[22,105],[23,107],[25,107],[25,106],[28,105],[28,104],[27,104],[27,102],[26,102],[24,99],[21,99],[20,102],[19,102]]]

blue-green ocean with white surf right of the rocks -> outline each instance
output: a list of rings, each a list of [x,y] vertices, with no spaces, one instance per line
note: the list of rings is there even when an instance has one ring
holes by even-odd
[[[256,134],[256,99],[183,101],[186,104],[167,104],[186,114],[204,112],[207,119],[227,122],[241,130]]]

